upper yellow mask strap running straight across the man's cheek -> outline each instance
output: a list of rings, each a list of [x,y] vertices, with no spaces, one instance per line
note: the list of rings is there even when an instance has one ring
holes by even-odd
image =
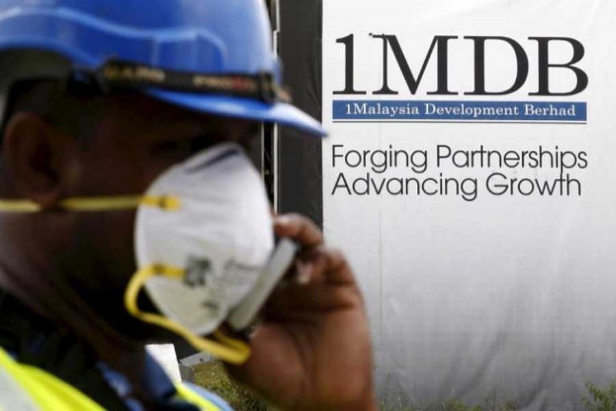
[[[180,208],[181,201],[173,196],[73,197],[60,201],[58,208],[67,211],[97,212],[131,210],[139,206],[175,211]],[[41,211],[41,206],[34,201],[0,200],[0,212],[29,213]]]

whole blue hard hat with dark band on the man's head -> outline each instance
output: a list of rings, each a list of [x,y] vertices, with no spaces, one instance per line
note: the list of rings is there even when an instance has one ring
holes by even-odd
[[[281,98],[271,36],[263,0],[0,0],[0,53],[57,53],[189,110],[324,136]]]

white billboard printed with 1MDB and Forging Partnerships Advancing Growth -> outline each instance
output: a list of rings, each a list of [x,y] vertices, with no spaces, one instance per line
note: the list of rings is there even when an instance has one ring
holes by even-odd
[[[382,393],[582,408],[616,377],[616,3],[323,3],[324,229]]]

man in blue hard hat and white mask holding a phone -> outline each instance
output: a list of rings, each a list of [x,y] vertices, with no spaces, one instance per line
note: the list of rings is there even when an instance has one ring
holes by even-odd
[[[346,260],[244,153],[324,135],[270,49],[261,0],[0,1],[0,410],[228,410],[144,350],[179,338],[284,409],[376,409]]]

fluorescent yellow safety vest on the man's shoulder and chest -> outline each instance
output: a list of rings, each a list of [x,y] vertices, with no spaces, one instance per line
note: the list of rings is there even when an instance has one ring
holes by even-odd
[[[201,411],[220,411],[216,404],[179,385],[180,399]],[[34,366],[20,364],[0,348],[0,411],[104,411],[73,386]]]

